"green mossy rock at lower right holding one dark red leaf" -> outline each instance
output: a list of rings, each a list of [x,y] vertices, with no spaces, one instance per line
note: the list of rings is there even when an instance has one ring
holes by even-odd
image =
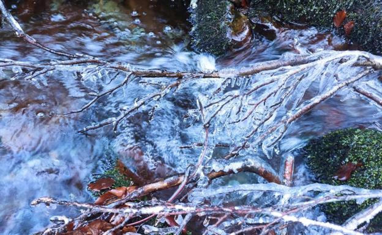
[[[331,185],[350,185],[366,189],[382,189],[382,133],[373,129],[342,129],[318,139],[304,147],[306,161],[317,181]],[[362,163],[347,181],[333,176],[347,163]],[[329,203],[322,206],[330,221],[342,224],[353,214],[374,203],[366,200]],[[369,231],[382,230],[382,215],[369,225]]]

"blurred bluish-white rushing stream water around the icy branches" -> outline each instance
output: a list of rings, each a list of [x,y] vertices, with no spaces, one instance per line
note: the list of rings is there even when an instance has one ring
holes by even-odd
[[[26,33],[50,48],[142,68],[219,69],[277,59],[286,51],[296,52],[296,46],[298,50],[309,51],[346,47],[345,41],[332,32],[313,27],[269,26],[276,35],[274,40],[258,40],[215,59],[190,50],[190,26],[183,3],[25,0],[6,5]],[[30,62],[62,59],[16,38],[6,24],[0,30],[0,38],[2,58]],[[199,150],[186,151],[179,146],[202,141],[201,130],[183,122],[183,115],[187,109],[196,107],[195,97],[202,90],[188,88],[169,96],[152,121],[145,113],[138,113],[122,124],[123,131],[114,133],[112,128],[105,127],[84,135],[77,131],[118,114],[120,107],[133,105],[137,97],[149,93],[151,88],[129,86],[101,99],[85,112],[61,115],[82,107],[91,99],[87,93],[108,87],[110,78],[81,80],[79,75],[60,72],[45,79],[36,86],[0,72],[1,234],[37,232],[49,224],[51,216],[76,215],[78,210],[74,208],[31,207],[29,203],[42,196],[92,201],[86,185],[93,173],[101,171],[107,152],[117,155],[146,180],[181,172],[197,159]],[[117,76],[115,81],[121,79]],[[293,151],[310,137],[348,126],[378,126],[380,120],[380,110],[372,104],[359,96],[340,93],[293,123],[281,149]],[[297,171],[295,184],[304,183],[303,174],[302,170]],[[246,176],[231,177],[228,181],[253,180]]]

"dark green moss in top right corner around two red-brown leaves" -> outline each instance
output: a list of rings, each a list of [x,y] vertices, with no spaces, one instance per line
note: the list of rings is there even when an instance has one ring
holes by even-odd
[[[332,28],[333,16],[346,10],[346,22],[355,26],[348,36],[364,50],[382,52],[382,3],[376,0],[252,0],[249,16],[277,16],[283,21],[303,22],[310,25]],[[343,27],[338,30],[344,35]]]

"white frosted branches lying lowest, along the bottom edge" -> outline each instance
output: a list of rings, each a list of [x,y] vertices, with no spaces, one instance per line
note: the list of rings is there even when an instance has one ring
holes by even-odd
[[[277,206],[264,205],[264,204],[254,204],[254,205],[236,205],[236,206],[224,206],[224,205],[208,205],[208,203],[200,203],[200,199],[208,199],[216,195],[230,195],[237,192],[247,192],[253,193],[254,197],[259,197],[259,193],[273,193],[275,200],[280,199],[280,195],[289,195],[290,201],[286,204],[280,204]],[[198,192],[198,193],[197,193]],[[320,192],[313,196],[312,192]],[[199,195],[199,196],[196,196]],[[308,197],[309,196],[309,197]],[[280,223],[294,223],[299,222],[305,226],[318,226],[332,231],[343,232],[346,234],[362,234],[360,232],[355,232],[353,225],[340,226],[327,222],[316,221],[314,219],[308,219],[299,216],[299,212],[316,206],[320,203],[328,203],[333,201],[347,201],[353,200],[355,198],[379,198],[382,196],[382,190],[367,190],[358,189],[346,185],[341,186],[331,186],[326,184],[311,184],[299,187],[286,187],[279,184],[269,183],[269,184],[253,184],[253,185],[238,185],[235,187],[221,187],[219,189],[194,189],[189,197],[189,203],[167,203],[163,201],[143,201],[143,202],[129,202],[126,203],[125,208],[109,208],[105,206],[96,206],[87,203],[77,203],[60,201],[54,198],[39,198],[35,200],[32,204],[37,205],[39,203],[45,204],[60,204],[68,206],[76,206],[81,208],[89,208],[94,211],[95,214],[99,213],[118,213],[123,216],[129,216],[130,218],[141,216],[141,215],[185,215],[185,219],[189,218],[189,215],[193,214],[195,216],[214,216],[221,214],[235,214],[238,216],[237,219],[230,222],[223,222],[217,228],[209,227],[210,232],[220,230],[225,232],[232,225],[247,224],[249,226],[257,226],[261,224],[273,224],[280,225]],[[196,197],[199,197],[196,199]],[[365,219],[370,219],[373,215],[380,211],[380,203],[377,203],[372,208],[368,208],[361,214],[351,218],[347,224],[352,224],[352,221],[362,220],[361,215],[367,216]],[[363,219],[363,220],[365,220]],[[159,231],[151,225],[145,225],[147,231]],[[260,226],[261,227],[261,226]],[[264,226],[262,226],[264,227]],[[168,228],[169,230],[160,230],[162,232],[176,232],[178,228]],[[226,230],[227,231],[227,230]],[[225,232],[226,233],[226,232]]]

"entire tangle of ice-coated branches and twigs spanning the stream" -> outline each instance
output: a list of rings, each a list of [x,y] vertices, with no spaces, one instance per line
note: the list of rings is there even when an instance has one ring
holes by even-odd
[[[192,3],[195,5],[197,1]],[[109,97],[122,96],[120,91],[123,91],[121,106],[115,107],[113,112],[105,112],[110,115],[85,126],[81,133],[109,125],[116,132],[123,131],[122,123],[138,113],[148,115],[151,121],[155,119],[157,109],[167,107],[171,97],[190,88],[194,91],[190,96],[192,104],[183,110],[182,115],[188,127],[192,126],[185,128],[185,132],[198,133],[200,138],[197,142],[185,143],[186,147],[177,146],[177,149],[194,151],[194,166],[185,166],[185,173],[141,185],[105,206],[39,198],[32,205],[59,204],[86,209],[78,217],[62,219],[63,224],[55,224],[40,234],[78,231],[88,228],[86,226],[91,223],[105,226],[104,234],[134,230],[142,224],[150,234],[179,234],[189,219],[196,217],[204,219],[204,234],[233,235],[254,231],[261,234],[272,229],[280,232],[288,225],[298,223],[358,235],[360,232],[354,230],[381,211],[378,202],[343,225],[308,218],[303,211],[316,205],[381,198],[382,191],[324,184],[287,187],[293,185],[293,155],[281,159],[280,169],[274,169],[263,159],[264,155],[279,157],[282,151],[278,143],[288,127],[340,91],[351,88],[351,92],[381,106],[380,94],[369,86],[377,79],[373,73],[382,69],[381,57],[361,51],[321,51],[308,55],[285,53],[278,60],[216,71],[141,69],[131,64],[51,50],[25,34],[2,1],[0,10],[16,36],[69,58],[40,63],[0,59],[0,73],[34,84],[46,83],[46,77],[52,73],[79,78],[91,92],[83,97],[86,101],[81,107],[67,110],[65,115],[92,112],[95,103],[105,101],[107,104]],[[134,92],[126,95],[125,89]],[[217,148],[224,150],[215,151]],[[230,187],[214,184],[219,177],[241,172],[257,174],[262,177],[260,181],[269,183]],[[166,200],[152,198],[136,202],[145,195],[169,188],[175,191]],[[182,216],[183,221],[178,221],[177,225],[170,223],[168,227],[160,228],[146,224],[151,219],[163,221],[179,215],[185,217]]]

